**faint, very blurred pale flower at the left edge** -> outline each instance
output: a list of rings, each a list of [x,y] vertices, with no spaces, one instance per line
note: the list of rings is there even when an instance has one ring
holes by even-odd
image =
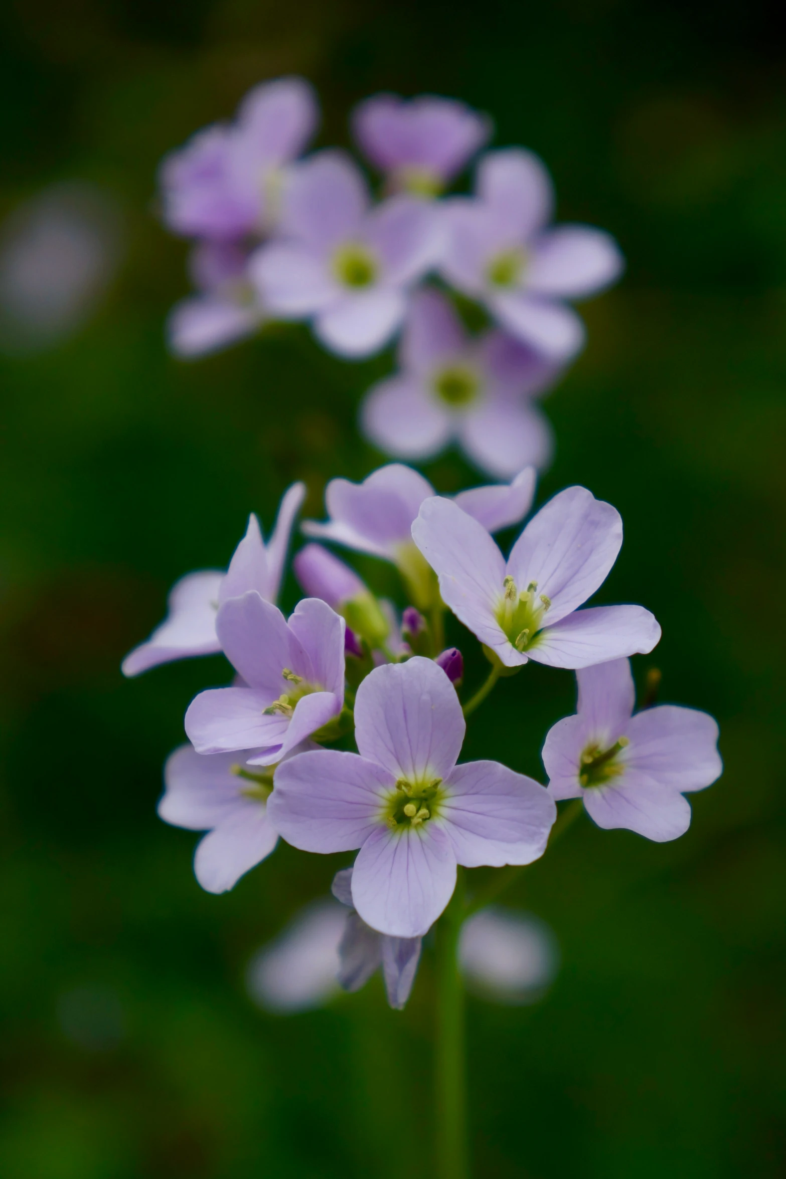
[[[121,253],[110,196],[57,184],[20,205],[0,229],[0,350],[37,351],[90,318]]]

